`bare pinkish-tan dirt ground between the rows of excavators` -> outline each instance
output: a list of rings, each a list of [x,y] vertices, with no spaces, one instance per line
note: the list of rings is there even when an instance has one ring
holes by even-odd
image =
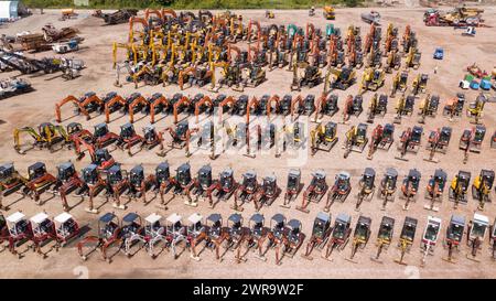
[[[496,25],[496,9],[485,8],[484,13],[486,23],[488,25]],[[368,30],[368,25],[360,21],[359,14],[365,10],[360,9],[341,9],[337,11],[337,20],[335,25],[339,26],[343,31],[349,24],[360,25],[363,39]],[[412,30],[417,32],[419,39],[419,46],[422,52],[422,64],[419,71],[410,72],[409,83],[411,83],[413,76],[418,73],[427,73],[430,76],[428,88],[429,92],[439,94],[441,96],[441,104],[446,98],[453,97],[459,92],[459,80],[465,74],[464,68],[474,62],[477,62],[483,68],[489,71],[494,66],[496,49],[496,31],[494,28],[477,29],[477,35],[475,37],[465,37],[461,35],[461,31],[455,31],[452,28],[427,28],[422,23],[422,9],[378,9],[382,15],[382,24],[387,25],[388,22],[392,22],[399,26],[399,33],[402,34],[405,26],[410,24]],[[309,18],[306,11],[276,11],[276,19],[268,21],[263,19],[263,11],[242,11],[236,12],[242,13],[245,20],[254,19],[261,22],[261,24],[277,23],[288,24],[294,22],[296,25],[304,26],[306,22],[313,22],[315,26],[324,28],[327,23],[322,18],[322,12],[317,11],[316,17]],[[67,95],[75,95],[76,97],[83,95],[86,92],[93,90],[98,95],[103,95],[107,92],[117,90],[120,95],[129,95],[134,92],[133,85],[125,85],[122,88],[116,88],[112,86],[115,80],[115,72],[111,68],[111,42],[120,41],[125,42],[127,39],[127,24],[120,24],[115,26],[103,26],[101,20],[96,20],[88,17],[88,12],[82,12],[77,20],[71,20],[66,22],[56,21],[58,12],[48,11],[44,15],[32,15],[28,19],[21,20],[13,24],[9,24],[7,28],[1,29],[1,33],[15,34],[21,31],[40,31],[41,26],[46,22],[52,22],[56,26],[63,25],[76,25],[82,36],[85,37],[85,42],[79,52],[68,54],[67,56],[75,56],[86,62],[88,66],[83,71],[83,76],[71,82],[65,82],[61,77],[54,75],[42,76],[25,76],[33,86],[35,92],[9,98],[0,103],[0,119],[6,123],[0,126],[0,137],[2,143],[0,143],[0,152],[3,158],[2,161],[15,162],[15,166],[19,171],[25,173],[28,165],[34,163],[37,160],[42,160],[47,163],[48,169],[54,174],[56,173],[55,165],[72,159],[74,161],[74,153],[72,151],[63,150],[54,153],[47,151],[30,151],[25,155],[17,154],[12,149],[12,130],[15,127],[23,126],[37,126],[43,121],[55,122],[54,119],[54,105],[56,101],[63,99]],[[385,30],[385,29],[384,29]],[[432,53],[434,49],[442,46],[445,50],[445,58],[443,61],[434,61]],[[50,56],[52,53],[40,53],[36,57]],[[434,66],[439,66],[438,74],[433,74]],[[362,77],[362,71],[358,71],[358,79]],[[4,74],[3,76],[17,75],[17,73]],[[291,80],[291,74],[283,69],[277,69],[268,73],[266,83],[255,89],[247,88],[246,94],[252,96],[261,96],[263,94],[289,94],[289,86]],[[387,76],[386,85],[380,92],[388,93],[390,88],[391,76]],[[314,87],[313,89],[303,89],[302,95],[315,94],[319,95],[323,89],[323,85]],[[164,95],[172,95],[179,90],[175,86],[166,88],[162,87],[141,87],[138,89],[143,95],[150,95],[155,92],[161,92]],[[355,84],[351,89],[346,92],[337,90],[339,95],[339,106],[342,106],[343,99],[348,94],[356,94],[358,85]],[[195,95],[198,92],[196,88],[186,89],[184,93],[187,95]],[[205,94],[211,94],[203,90]],[[227,93],[238,95],[228,89],[223,89],[220,93]],[[296,93],[292,93],[298,95]],[[477,92],[466,92],[466,98],[468,101],[473,101],[477,95]],[[370,93],[364,95],[364,106],[368,105],[368,100],[371,97]],[[396,99],[390,99],[388,114],[381,120],[376,118],[376,123],[392,122],[393,107]],[[416,105],[416,114],[418,106]],[[65,111],[67,116],[69,109]],[[380,200],[377,196],[371,202],[365,202],[360,212],[354,211],[356,202],[356,193],[358,191],[358,180],[365,166],[371,166],[377,172],[376,183],[378,183],[387,168],[393,166],[399,171],[399,181],[408,173],[409,169],[417,168],[422,173],[421,190],[423,192],[427,181],[430,175],[433,174],[436,168],[444,169],[449,174],[449,180],[460,170],[467,170],[472,172],[472,179],[474,179],[481,169],[496,168],[496,150],[489,149],[489,138],[496,128],[496,107],[494,104],[486,105],[484,123],[487,127],[486,140],[484,141],[483,150],[481,154],[471,154],[467,164],[462,164],[463,154],[457,149],[457,141],[463,129],[472,127],[468,119],[463,117],[461,120],[450,122],[446,118],[438,115],[435,119],[428,119],[424,126],[423,146],[427,141],[427,136],[430,130],[440,128],[442,126],[453,127],[452,142],[446,154],[436,154],[440,158],[440,163],[429,163],[423,160],[428,155],[428,152],[422,150],[417,154],[409,154],[410,161],[395,160],[397,154],[396,148],[392,147],[388,152],[378,151],[373,161],[366,159],[365,153],[352,153],[346,160],[343,159],[343,149],[341,143],[344,140],[344,133],[348,129],[349,125],[338,126],[339,143],[330,152],[317,152],[313,158],[308,158],[308,161],[303,161],[302,164],[298,164],[295,160],[291,160],[289,155],[282,155],[280,159],[273,158],[273,154],[261,154],[256,159],[249,159],[240,154],[226,155],[222,154],[217,160],[211,161],[206,154],[194,154],[190,159],[184,157],[184,151],[174,150],[166,157],[172,168],[179,166],[181,163],[190,161],[193,168],[193,172],[209,162],[214,169],[214,175],[218,174],[225,166],[231,165],[235,170],[235,176],[239,181],[241,173],[248,169],[255,169],[259,176],[263,176],[273,172],[279,180],[279,185],[285,189],[285,179],[289,168],[299,165],[302,170],[302,181],[308,184],[311,179],[311,171],[317,168],[322,168],[327,173],[327,182],[331,184],[334,181],[334,175],[346,170],[352,174],[353,190],[345,203],[333,204],[331,212],[334,217],[341,213],[351,214],[353,217],[352,225],[354,226],[359,215],[366,215],[373,218],[371,224],[371,239],[367,244],[365,249],[360,249],[356,255],[358,264],[352,264],[345,260],[345,257],[349,257],[351,244],[341,252],[333,254],[334,261],[330,262],[319,257],[319,252],[314,251],[315,259],[313,261],[305,260],[300,257],[303,251],[299,250],[299,254],[294,258],[283,258],[281,266],[274,265],[274,252],[269,250],[268,261],[262,262],[254,257],[252,254],[248,255],[248,261],[246,264],[236,265],[234,261],[234,255],[231,252],[226,254],[223,262],[218,264],[215,260],[213,252],[205,250],[201,254],[202,260],[192,260],[185,251],[179,259],[174,260],[171,254],[162,254],[155,260],[152,260],[148,255],[141,250],[131,259],[126,258],[122,254],[117,255],[114,258],[114,262],[108,265],[103,261],[97,254],[94,254],[88,261],[82,261],[77,255],[74,244],[63,248],[58,254],[51,252],[48,258],[41,259],[31,251],[22,259],[18,260],[14,256],[10,255],[7,250],[0,256],[0,264],[2,266],[2,272],[0,277],[3,278],[76,278],[76,277],[89,277],[89,278],[141,278],[141,277],[157,277],[157,278],[494,278],[496,277],[496,269],[494,269],[494,261],[490,260],[489,244],[488,240],[484,241],[482,254],[479,258],[482,262],[475,262],[465,258],[468,248],[463,244],[462,249],[456,254],[457,264],[452,265],[442,260],[442,257],[446,256],[446,250],[441,247],[441,239],[444,238],[445,227],[449,223],[453,209],[453,204],[448,201],[445,193],[444,200],[440,205],[438,213],[431,213],[423,208],[427,203],[423,197],[419,197],[413,203],[409,211],[402,209],[405,201],[396,197],[393,203],[388,204],[386,211],[380,209]],[[115,118],[115,117],[114,117]],[[64,120],[64,125],[71,121],[79,121],[83,125],[91,128],[93,125],[104,121],[104,117],[97,117],[90,121],[83,120],[84,118],[76,117]],[[326,121],[328,118],[324,119]],[[334,121],[341,120],[341,115],[337,114],[332,118]],[[359,118],[352,117],[351,125],[357,125],[358,122],[365,122],[366,114],[362,114]],[[119,126],[127,121],[127,117],[115,120],[110,123],[110,129],[119,131]],[[136,128],[141,131],[141,128],[149,122],[148,117],[141,118],[136,122]],[[161,119],[157,127],[159,129],[165,128],[172,123],[172,118],[166,117]],[[417,117],[403,118],[402,125],[396,127],[396,137],[398,137],[403,129],[417,123]],[[314,123],[312,123],[313,126]],[[369,132],[371,131],[369,126]],[[153,172],[154,166],[163,161],[162,158],[154,154],[154,151],[142,151],[137,155],[129,158],[125,152],[119,150],[112,152],[112,155],[121,163],[126,169],[131,169],[134,164],[143,163],[148,173]],[[89,159],[85,158],[82,161],[76,162],[78,170],[88,164]],[[149,196],[151,197],[151,195]],[[493,192],[493,197],[494,192]],[[101,201],[97,198],[97,203]],[[33,205],[30,200],[21,200],[15,202],[15,196],[10,196],[4,200],[4,203],[10,204],[11,208],[6,212],[4,215],[9,215],[17,209],[22,209],[26,216],[32,216],[37,212],[45,209],[52,216],[62,212],[62,206],[58,197],[48,200],[43,208]],[[69,197],[72,204],[77,203],[78,198]],[[282,197],[279,197],[274,204],[270,207],[263,207],[261,213],[266,216],[267,224],[270,217],[276,213],[283,213],[288,219],[298,218],[303,224],[303,232],[306,235],[311,234],[312,223],[317,214],[324,206],[323,202],[320,204],[310,205],[310,214],[304,214],[294,209],[295,204],[292,204],[290,209],[280,207]],[[163,216],[168,216],[170,213],[177,212],[186,221],[187,216],[194,212],[200,212],[204,216],[207,216],[212,212],[218,212],[224,215],[225,218],[231,213],[228,203],[220,203],[215,209],[209,209],[206,203],[202,203],[197,208],[185,206],[179,198],[171,203],[169,211],[161,211]],[[298,198],[301,202],[301,197]],[[147,206],[134,202],[129,205],[128,211],[136,211],[142,216],[148,216],[152,212],[160,212],[155,207],[158,200],[151,202]],[[79,204],[71,213],[78,219],[80,224],[90,223],[90,226],[95,226],[95,215],[84,212],[84,204]],[[456,209],[457,214],[462,214],[470,221],[476,209],[477,204],[470,196],[470,202],[465,206],[460,206]],[[494,204],[488,204],[484,214],[488,215],[489,221],[495,217]],[[101,207],[101,212],[112,211],[111,206],[107,203]],[[245,211],[242,215],[245,221],[254,213],[252,204],[245,204]],[[123,216],[122,212],[117,212],[119,216]],[[381,255],[384,264],[373,262],[369,257],[376,254],[375,239],[377,236],[378,226],[384,215],[391,216],[396,219],[393,245],[389,250]],[[434,256],[429,256],[427,266],[420,268],[421,252],[420,252],[420,239],[422,236],[423,227],[427,222],[428,215],[434,215],[443,221],[443,228],[439,245],[434,251]],[[405,216],[411,216],[419,219],[419,227],[416,235],[416,241],[412,246],[410,254],[407,255],[406,260],[410,266],[400,266],[393,262],[393,259],[399,257],[399,250],[396,248],[398,243],[398,236],[401,230]],[[464,238],[465,239],[465,238]],[[306,240],[304,241],[306,245]],[[23,249],[24,246],[21,247]],[[487,266],[486,266],[487,265]]]

